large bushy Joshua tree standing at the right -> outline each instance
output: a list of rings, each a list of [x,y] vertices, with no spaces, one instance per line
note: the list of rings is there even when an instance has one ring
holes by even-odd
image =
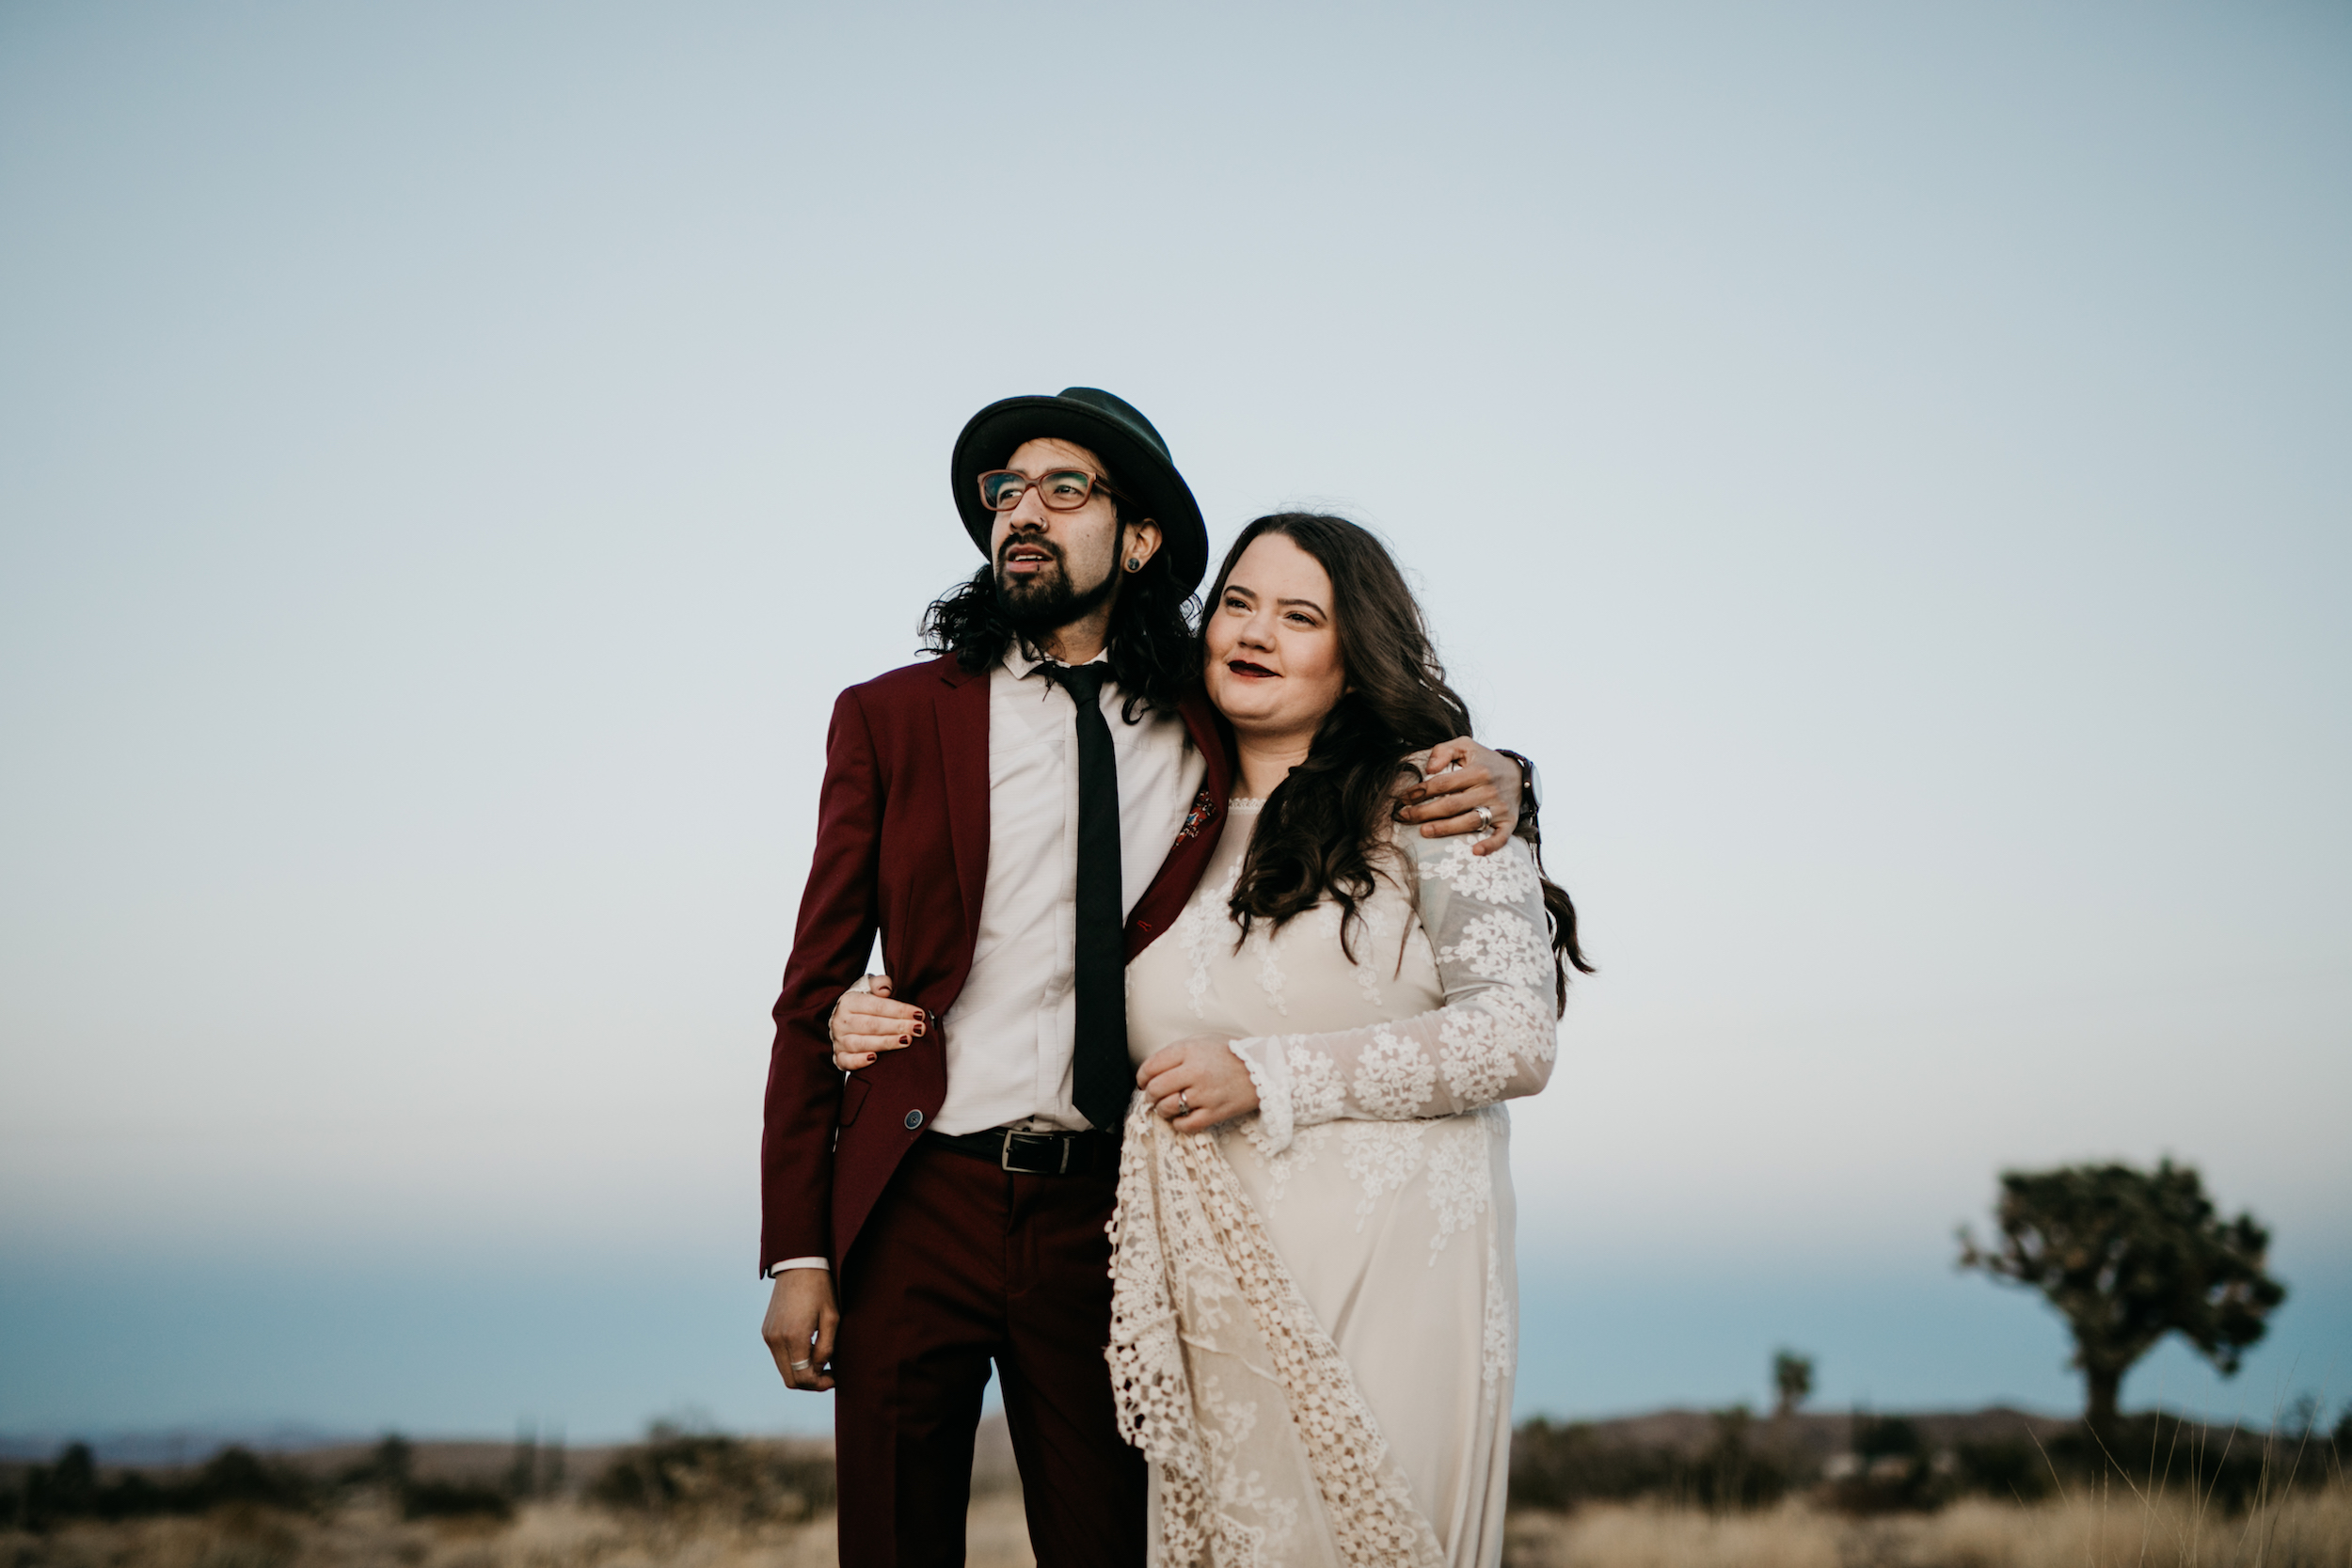
[[[2230,1378],[2286,1286],[2263,1272],[2270,1232],[2223,1220],[2194,1166],[2004,1171],[1997,1246],[1959,1229],[1959,1267],[2042,1291],[2074,1331],[2084,1422],[2114,1425],[2131,1363],[2178,1333]]]

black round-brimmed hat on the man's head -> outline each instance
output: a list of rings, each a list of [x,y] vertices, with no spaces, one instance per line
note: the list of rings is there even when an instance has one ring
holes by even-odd
[[[1110,482],[1131,498],[1134,512],[1160,524],[1160,548],[1183,592],[1200,588],[1209,571],[1209,527],[1200,520],[1192,487],[1176,473],[1169,444],[1129,402],[1091,386],[1065,386],[1058,397],[1007,397],[971,416],[955,437],[955,510],[964,531],[988,555],[997,515],[981,505],[981,475],[1004,468],[1021,442],[1054,437],[1077,442],[1110,468]]]

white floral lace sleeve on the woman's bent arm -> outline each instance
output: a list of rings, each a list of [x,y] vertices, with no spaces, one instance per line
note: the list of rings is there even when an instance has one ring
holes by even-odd
[[[1543,882],[1526,842],[1472,856],[1468,837],[1397,835],[1421,877],[1421,926],[1446,1004],[1329,1034],[1232,1041],[1258,1088],[1249,1138],[1268,1154],[1319,1121],[1409,1121],[1531,1095],[1552,1077],[1559,1016]]]

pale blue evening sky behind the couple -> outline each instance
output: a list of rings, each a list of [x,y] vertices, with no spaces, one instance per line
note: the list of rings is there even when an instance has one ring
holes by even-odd
[[[1602,973],[1522,1408],[2065,1408],[1997,1168],[2352,1394],[2352,12],[0,5],[0,1429],[823,1422],[833,691],[1108,386],[1378,527]]]

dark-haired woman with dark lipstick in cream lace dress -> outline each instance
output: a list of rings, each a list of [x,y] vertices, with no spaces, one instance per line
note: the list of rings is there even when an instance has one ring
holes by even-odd
[[[1207,607],[1240,797],[1183,919],[1129,966],[1143,1093],[1112,1265],[1157,1556],[1496,1563],[1501,1100],[1550,1077],[1576,912],[1524,842],[1477,858],[1395,823],[1416,752],[1470,715],[1371,534],[1261,517]]]

